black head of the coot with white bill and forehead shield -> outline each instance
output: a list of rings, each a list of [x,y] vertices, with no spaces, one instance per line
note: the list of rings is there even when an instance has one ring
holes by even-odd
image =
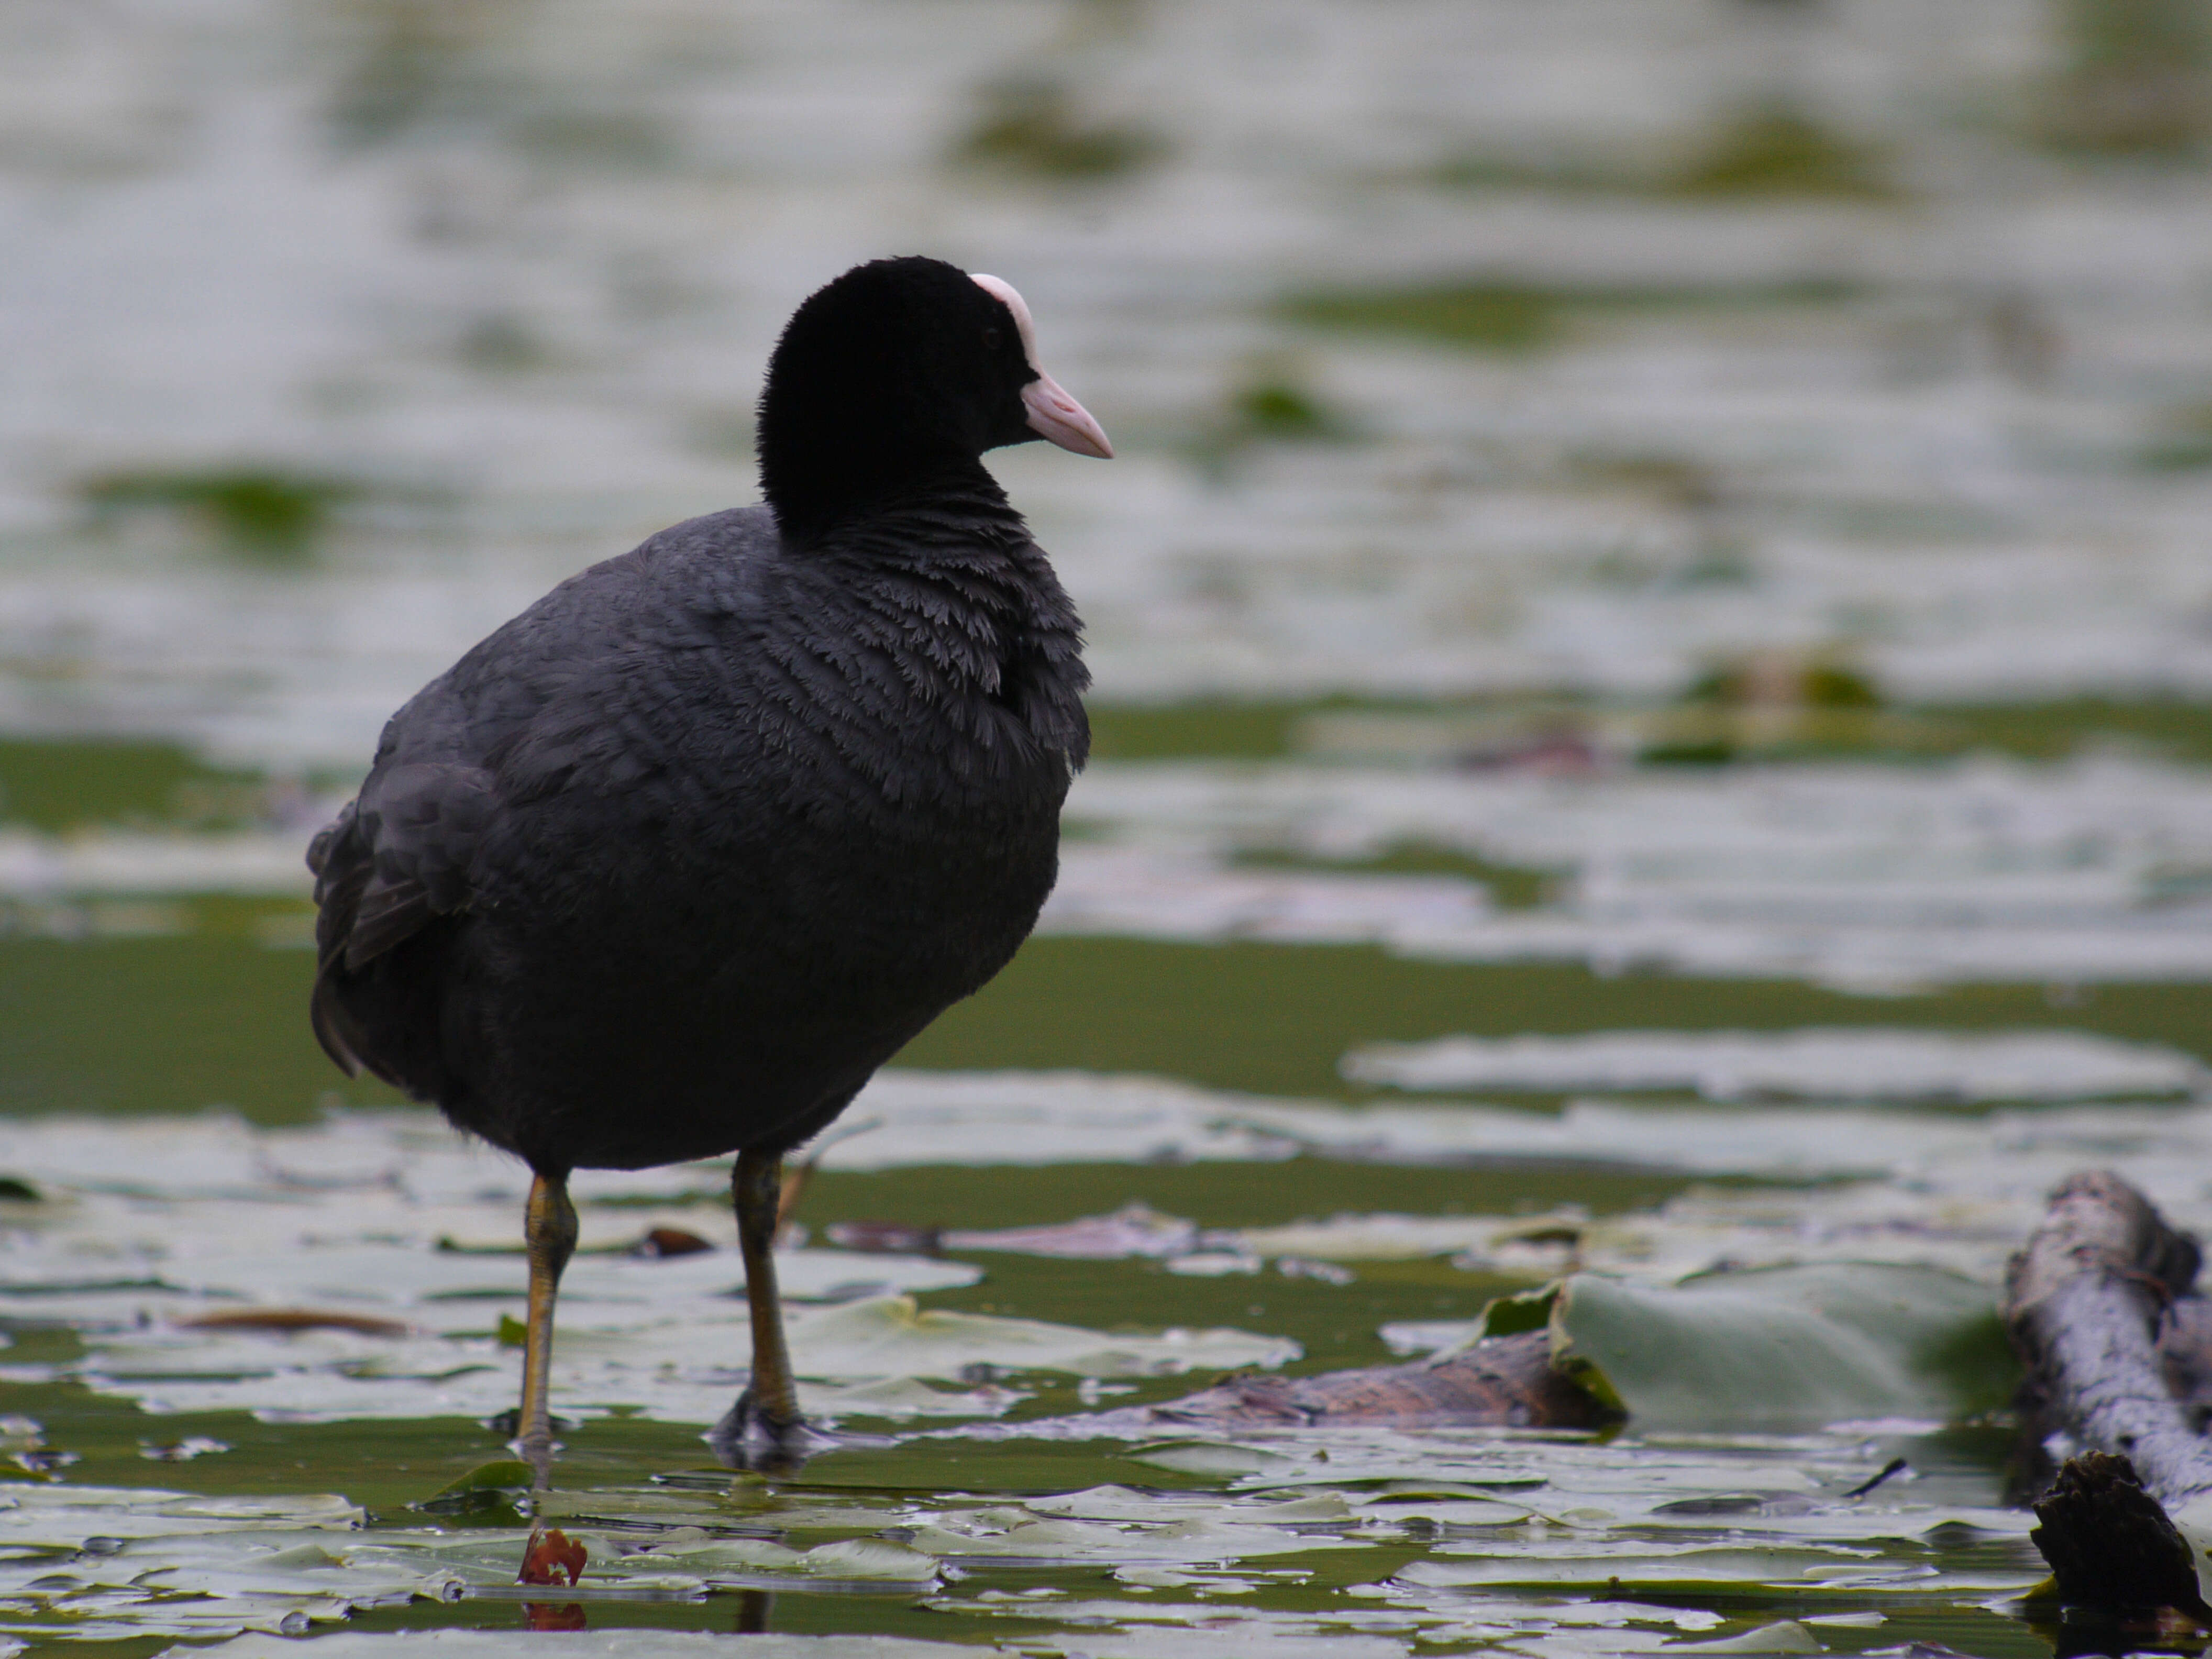
[[[1106,434],[1035,361],[1022,296],[942,259],[876,259],[814,292],[768,361],[761,489],[810,540],[1000,445]]]

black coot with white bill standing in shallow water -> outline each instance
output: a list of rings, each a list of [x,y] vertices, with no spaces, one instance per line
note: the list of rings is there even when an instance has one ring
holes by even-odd
[[[803,1444],[781,1159],[1029,936],[1088,752],[1075,611],[980,460],[1040,436],[1113,453],[1013,288],[933,259],[845,272],[770,361],[765,502],[476,646],[307,854],[323,1048],[535,1175],[540,1484],[575,1168],[737,1152],[752,1374],[714,1442]]]

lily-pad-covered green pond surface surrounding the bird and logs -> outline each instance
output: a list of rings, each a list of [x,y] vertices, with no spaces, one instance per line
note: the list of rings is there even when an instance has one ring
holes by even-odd
[[[580,1177],[540,1606],[2201,1648],[2028,1595],[1993,1318],[2070,1170],[2212,1228],[2185,11],[0,20],[0,1659],[553,1639],[522,1179],[316,1051],[299,856],[460,650],[750,500],[783,319],[909,248],[1018,281],[1119,451],[993,460],[1097,672],[1062,889],[803,1190],[803,1471],[701,1442],[726,1170]],[[1500,1321],[1624,1429],[1152,1413],[1542,1285]]]

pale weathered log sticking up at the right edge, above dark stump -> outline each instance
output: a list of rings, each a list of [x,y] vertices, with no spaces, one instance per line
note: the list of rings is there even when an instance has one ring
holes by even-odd
[[[2053,1420],[2119,1451],[2168,1509],[2212,1493],[2212,1442],[2168,1387],[2161,1321],[2199,1250],[2108,1170],[2068,1177],[2004,1274],[2004,1323]]]

